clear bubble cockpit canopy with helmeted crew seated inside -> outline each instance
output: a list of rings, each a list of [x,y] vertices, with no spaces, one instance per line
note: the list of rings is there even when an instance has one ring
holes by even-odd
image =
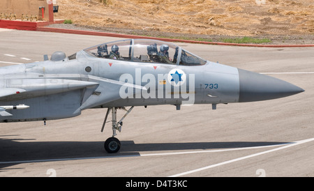
[[[121,61],[167,63],[183,66],[200,66],[206,60],[172,43],[149,39],[128,39],[104,43],[84,49],[91,56]]]

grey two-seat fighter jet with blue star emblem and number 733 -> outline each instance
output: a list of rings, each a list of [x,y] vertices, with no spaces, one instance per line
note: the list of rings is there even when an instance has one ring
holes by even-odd
[[[127,39],[73,55],[0,68],[0,122],[65,119],[90,108],[112,114],[105,151],[121,147],[117,130],[133,107],[254,102],[304,91],[281,79],[214,63],[173,43]],[[126,109],[126,107],[130,107]],[[117,120],[117,109],[126,114]]]

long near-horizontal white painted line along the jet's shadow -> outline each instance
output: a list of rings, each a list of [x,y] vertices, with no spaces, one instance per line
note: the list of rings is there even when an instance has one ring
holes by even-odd
[[[292,143],[288,143],[292,144]],[[29,162],[53,162],[53,161],[66,161],[66,160],[90,160],[90,159],[104,159],[104,158],[129,158],[129,157],[144,157],[144,156],[158,156],[158,155],[183,155],[183,154],[195,154],[195,153],[216,153],[224,151],[237,151],[237,150],[246,150],[254,148],[266,148],[271,146],[281,146],[285,144],[273,144],[267,146],[251,146],[251,147],[242,147],[242,148],[227,148],[227,149],[218,149],[218,150],[207,150],[207,151],[186,151],[186,152],[174,152],[174,153],[152,153],[152,154],[138,154],[138,155],[111,155],[103,157],[90,157],[90,158],[59,158],[59,159],[46,159],[46,160],[20,160],[20,161],[8,161],[0,162],[1,164],[14,164],[14,163],[29,163]]]

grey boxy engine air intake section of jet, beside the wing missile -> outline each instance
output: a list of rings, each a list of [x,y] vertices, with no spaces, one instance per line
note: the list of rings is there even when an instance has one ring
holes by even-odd
[[[82,98],[98,86],[85,75],[5,75],[0,80],[0,122],[77,116]]]

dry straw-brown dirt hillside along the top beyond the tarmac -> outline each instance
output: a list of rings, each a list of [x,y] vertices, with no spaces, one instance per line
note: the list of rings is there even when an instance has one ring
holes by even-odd
[[[314,35],[313,0],[58,0],[79,26],[198,35]]]

